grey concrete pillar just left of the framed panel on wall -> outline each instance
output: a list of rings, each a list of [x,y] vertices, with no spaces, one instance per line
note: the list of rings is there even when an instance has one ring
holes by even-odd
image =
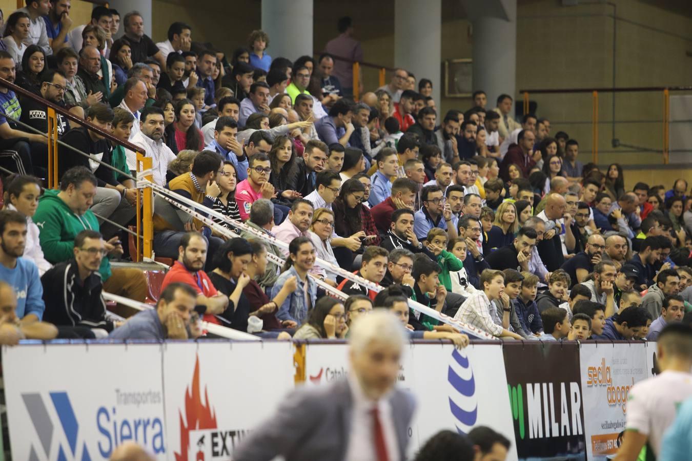
[[[441,3],[441,0],[394,0],[394,66],[410,70],[417,80],[430,79],[437,107],[442,85]],[[440,114],[437,117],[439,120]]]

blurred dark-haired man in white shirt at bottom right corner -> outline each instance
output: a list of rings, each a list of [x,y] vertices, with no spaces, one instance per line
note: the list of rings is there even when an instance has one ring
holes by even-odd
[[[692,329],[682,323],[666,326],[658,337],[656,359],[662,372],[630,388],[625,435],[616,461],[655,459],[677,407],[692,396]]]

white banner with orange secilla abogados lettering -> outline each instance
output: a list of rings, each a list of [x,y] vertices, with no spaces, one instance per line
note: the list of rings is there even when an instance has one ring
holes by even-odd
[[[582,344],[579,351],[584,434],[589,460],[617,452],[630,388],[648,377],[646,345]]]

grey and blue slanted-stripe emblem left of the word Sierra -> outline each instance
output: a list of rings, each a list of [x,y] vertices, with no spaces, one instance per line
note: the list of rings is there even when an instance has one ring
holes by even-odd
[[[86,449],[86,443],[82,442],[82,446],[78,443],[78,435],[80,426],[77,422],[77,417],[75,416],[75,411],[70,403],[70,397],[66,392],[51,392],[48,395],[51,396],[50,402],[55,407],[55,413],[60,420],[60,426],[62,426],[62,431],[67,439],[67,445],[63,446],[60,444],[57,452],[58,460],[82,460],[91,461],[91,456],[89,456],[89,451]],[[26,393],[21,395],[21,399],[24,400],[24,406],[26,406],[26,411],[29,413],[31,422],[34,424],[34,429],[38,435],[40,445],[32,443],[31,452],[29,455],[29,460],[39,460],[42,458],[48,458],[51,456],[51,448],[53,443],[54,431],[57,429],[53,426],[53,421],[51,416],[48,414],[48,408],[46,407],[46,402],[44,398],[39,393]],[[60,442],[58,442],[60,443]],[[78,453],[81,448],[81,453]],[[43,449],[44,455],[38,456],[40,453],[39,449]],[[81,457],[78,457],[81,454]]]

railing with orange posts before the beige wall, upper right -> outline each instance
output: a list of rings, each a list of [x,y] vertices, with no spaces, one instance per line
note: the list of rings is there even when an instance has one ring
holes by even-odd
[[[598,163],[599,160],[599,93],[644,93],[644,92],[660,92],[663,95],[663,117],[662,120],[654,122],[662,122],[662,153],[663,164],[668,164],[670,160],[670,124],[671,124],[671,106],[670,93],[671,91],[692,91],[692,86],[637,86],[624,88],[555,88],[555,89],[532,89],[520,90],[523,100],[523,113],[529,113],[529,95],[536,94],[561,94],[567,95],[570,93],[591,93],[592,100],[592,162]],[[613,113],[614,118],[614,113]],[[612,120],[612,123],[617,123]],[[615,140],[613,140],[615,142]],[[644,149],[650,151],[651,149]]]

